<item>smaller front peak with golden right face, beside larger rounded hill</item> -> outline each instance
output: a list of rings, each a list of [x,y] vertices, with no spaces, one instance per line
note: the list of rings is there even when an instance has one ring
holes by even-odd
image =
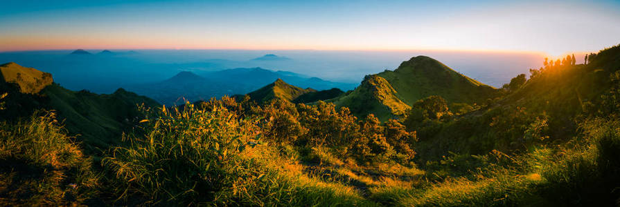
[[[348,107],[357,117],[373,114],[381,120],[404,115],[407,109],[411,108],[401,101],[398,92],[390,83],[378,75],[367,75],[355,90],[330,101],[333,101],[337,108]]]

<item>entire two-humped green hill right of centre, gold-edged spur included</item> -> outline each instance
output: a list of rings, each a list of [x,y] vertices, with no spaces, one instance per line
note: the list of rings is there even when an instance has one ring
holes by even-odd
[[[418,56],[404,61],[394,70],[364,78],[362,84],[344,96],[329,100],[346,106],[353,114],[369,113],[385,121],[402,117],[420,99],[439,95],[449,106],[483,103],[497,94],[493,87],[460,74],[430,57]]]

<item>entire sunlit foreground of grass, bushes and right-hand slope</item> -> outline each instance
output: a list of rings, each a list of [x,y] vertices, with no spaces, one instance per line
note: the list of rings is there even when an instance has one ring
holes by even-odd
[[[38,111],[0,126],[0,204],[614,206],[619,50],[547,63],[486,103],[431,96],[387,121],[323,101],[140,106],[96,154]]]

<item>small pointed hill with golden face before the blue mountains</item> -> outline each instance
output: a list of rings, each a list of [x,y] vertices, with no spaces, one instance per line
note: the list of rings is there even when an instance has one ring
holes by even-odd
[[[299,88],[297,86],[291,86],[285,83],[282,79],[277,79],[274,83],[271,83],[263,88],[249,92],[247,95],[250,99],[257,102],[265,102],[272,99],[285,99],[292,101],[296,97],[299,97],[308,92],[316,92],[312,88]]]

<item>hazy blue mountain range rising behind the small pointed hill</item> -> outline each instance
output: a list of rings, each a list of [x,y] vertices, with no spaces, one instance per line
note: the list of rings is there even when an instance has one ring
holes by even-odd
[[[325,81],[294,72],[273,71],[263,68],[235,68],[204,72],[202,75],[184,71],[164,81],[126,86],[125,88],[166,105],[180,105],[184,101],[199,101],[211,97],[219,98],[224,95],[243,95],[278,79],[294,86],[314,88],[314,90],[332,88],[348,90],[355,87],[355,84],[352,83]]]

